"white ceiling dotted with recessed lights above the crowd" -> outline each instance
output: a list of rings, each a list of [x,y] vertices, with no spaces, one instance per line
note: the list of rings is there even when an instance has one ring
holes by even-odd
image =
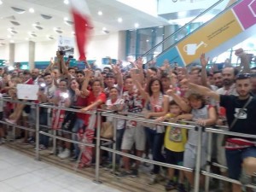
[[[0,44],[8,44],[10,40],[14,40],[15,43],[25,42],[27,38],[34,42],[49,41],[47,36],[73,37],[73,26],[67,26],[64,23],[64,17],[69,20],[72,18],[69,15],[69,5],[64,4],[63,0],[2,0],[2,2],[3,4],[0,5]],[[87,0],[87,3],[94,24],[94,35],[103,35],[102,27],[106,27],[109,32],[132,29],[136,22],[140,28],[168,25],[167,20],[148,15],[116,0]],[[17,14],[11,7],[25,9],[26,12]],[[30,8],[35,9],[33,14],[29,13]],[[97,15],[99,10],[102,11],[102,16]],[[52,18],[45,20],[41,15],[50,15]],[[117,21],[119,17],[123,19],[122,23]],[[15,26],[10,21],[17,21],[20,26]],[[39,22],[44,29],[35,29],[32,24],[36,22]],[[18,32],[12,37],[8,31],[10,27],[14,27]],[[60,27],[63,33],[55,33],[54,27]],[[28,32],[35,32],[38,37],[32,38]]]

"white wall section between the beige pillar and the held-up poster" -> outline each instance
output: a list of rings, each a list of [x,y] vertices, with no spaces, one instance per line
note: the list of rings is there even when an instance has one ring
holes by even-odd
[[[55,57],[57,49],[57,41],[55,40],[36,43],[35,61],[49,61],[51,57]]]

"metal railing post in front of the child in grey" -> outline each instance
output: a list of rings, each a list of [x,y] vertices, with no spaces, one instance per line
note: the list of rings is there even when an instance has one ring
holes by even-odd
[[[195,188],[195,192],[199,192],[199,189],[200,189],[200,174],[201,174],[202,127],[201,126],[196,126],[195,130],[197,130],[197,132],[198,132],[198,137],[197,137],[194,188]]]

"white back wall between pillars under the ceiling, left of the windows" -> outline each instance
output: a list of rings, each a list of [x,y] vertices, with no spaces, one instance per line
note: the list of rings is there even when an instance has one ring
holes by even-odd
[[[35,44],[35,61],[49,61],[55,57],[58,49],[57,41],[45,41]],[[103,34],[90,39],[87,47],[87,59],[100,62],[103,57],[110,56],[118,59],[119,55],[119,32]],[[9,45],[0,47],[0,59],[9,60]],[[15,44],[15,62],[28,61],[28,42]],[[74,58],[79,58],[78,49],[75,43]]]

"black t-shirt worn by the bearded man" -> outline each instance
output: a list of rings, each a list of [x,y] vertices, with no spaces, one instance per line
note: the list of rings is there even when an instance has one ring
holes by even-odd
[[[224,96],[220,95],[220,106],[226,108],[226,116],[229,126],[236,118],[238,112],[247,103],[247,100],[240,100],[238,96]],[[247,105],[239,115],[236,124],[230,131],[256,135],[256,97]],[[255,140],[245,138],[248,140]]]

